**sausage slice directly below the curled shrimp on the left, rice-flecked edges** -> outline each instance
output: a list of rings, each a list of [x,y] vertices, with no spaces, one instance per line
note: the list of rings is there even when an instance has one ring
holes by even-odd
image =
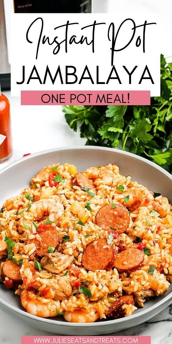
[[[35,254],[37,256],[45,256],[49,246],[58,248],[60,240],[55,228],[46,229],[39,233],[40,240],[37,238],[29,240],[29,244],[34,243],[36,246]]]

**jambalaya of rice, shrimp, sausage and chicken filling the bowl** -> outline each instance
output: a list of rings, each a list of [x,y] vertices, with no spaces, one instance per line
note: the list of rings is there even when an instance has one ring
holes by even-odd
[[[172,282],[170,210],[116,164],[47,166],[3,204],[1,280],[44,318],[131,315]]]

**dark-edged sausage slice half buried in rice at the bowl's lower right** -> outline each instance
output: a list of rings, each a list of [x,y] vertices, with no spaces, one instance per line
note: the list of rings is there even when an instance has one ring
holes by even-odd
[[[123,318],[125,315],[125,310],[122,309],[124,304],[135,304],[132,295],[121,296],[110,306],[107,315],[114,319]]]

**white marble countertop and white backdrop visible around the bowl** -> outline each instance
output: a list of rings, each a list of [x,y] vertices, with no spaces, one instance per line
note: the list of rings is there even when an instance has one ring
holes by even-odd
[[[163,8],[161,8],[162,6]],[[171,0],[164,0],[163,3],[160,0],[108,1],[109,11],[123,11],[125,8],[125,12],[149,11],[161,12],[162,17],[167,15],[165,22],[169,37],[164,35],[162,38],[161,35],[160,38],[162,52],[165,56],[171,55],[172,52],[172,41],[170,40],[170,32],[172,32],[170,13],[172,10],[170,10],[170,6],[172,8]],[[81,139],[79,133],[74,133],[68,127],[60,106],[20,106],[19,98],[11,98],[10,92],[4,93],[11,104],[13,155],[8,162],[0,165],[0,169],[21,158],[25,153],[85,143],[85,139]],[[39,136],[33,134],[34,128],[38,128]],[[50,335],[50,333],[25,325],[17,315],[14,317],[10,311],[1,310],[0,344],[19,344],[22,335]],[[114,335],[151,335],[151,344],[172,343],[172,305],[148,322],[122,332],[116,332]]]

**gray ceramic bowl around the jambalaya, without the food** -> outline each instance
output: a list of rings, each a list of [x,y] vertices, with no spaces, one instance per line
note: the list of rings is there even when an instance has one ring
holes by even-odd
[[[172,176],[158,165],[137,155],[116,149],[101,147],[71,147],[48,150],[18,160],[0,171],[0,207],[11,196],[17,195],[44,166],[54,163],[71,163],[82,172],[89,166],[116,163],[123,175],[131,175],[150,190],[160,192],[172,202]],[[96,335],[127,329],[152,318],[172,302],[172,285],[163,295],[146,301],[133,315],[118,320],[99,320],[95,323],[68,323],[63,317],[43,319],[28,314],[21,306],[20,298],[0,284],[0,304],[6,311],[18,314],[37,329],[68,335]],[[16,314],[17,313],[17,314]]]

